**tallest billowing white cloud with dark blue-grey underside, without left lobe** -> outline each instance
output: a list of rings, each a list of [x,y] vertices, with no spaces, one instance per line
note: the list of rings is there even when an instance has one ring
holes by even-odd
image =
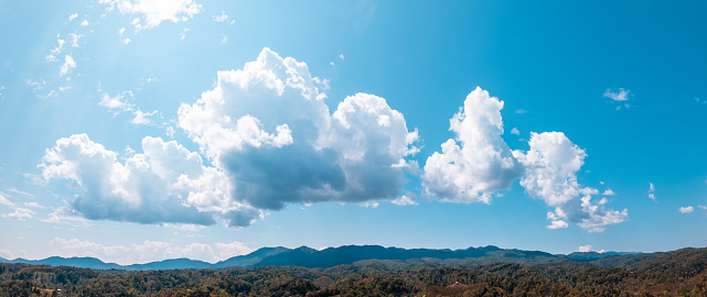
[[[182,105],[179,125],[254,207],[396,199],[417,132],[373,95],[347,97],[331,114],[315,80],[307,64],[265,48]]]

